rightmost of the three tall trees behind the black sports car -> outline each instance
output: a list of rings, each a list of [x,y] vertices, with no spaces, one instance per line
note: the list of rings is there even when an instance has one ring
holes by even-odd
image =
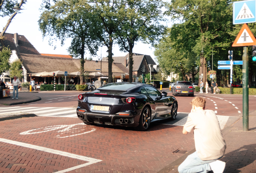
[[[120,50],[129,52],[129,82],[132,82],[134,44],[139,40],[155,44],[165,27],[159,23],[164,19],[162,0],[127,0],[126,4],[126,18],[122,20],[117,35]]]

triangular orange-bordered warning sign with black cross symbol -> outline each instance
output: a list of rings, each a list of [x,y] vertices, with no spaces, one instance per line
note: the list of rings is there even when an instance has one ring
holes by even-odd
[[[235,38],[232,47],[253,45],[256,45],[256,39],[248,28],[247,24],[244,24],[237,37]]]

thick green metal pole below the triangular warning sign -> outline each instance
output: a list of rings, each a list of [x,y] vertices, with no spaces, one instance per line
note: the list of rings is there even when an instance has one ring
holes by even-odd
[[[243,131],[249,131],[249,89],[248,89],[248,46],[244,46],[243,54]]]

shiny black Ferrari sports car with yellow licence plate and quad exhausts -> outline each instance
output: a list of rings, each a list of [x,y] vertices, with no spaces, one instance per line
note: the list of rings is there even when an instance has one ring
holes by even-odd
[[[146,131],[153,121],[174,120],[178,102],[142,83],[117,82],[78,95],[76,113],[86,125],[107,124]]]

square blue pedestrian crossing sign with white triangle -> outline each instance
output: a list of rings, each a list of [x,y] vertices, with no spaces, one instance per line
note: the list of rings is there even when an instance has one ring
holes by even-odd
[[[256,0],[233,2],[233,24],[256,22]]]

